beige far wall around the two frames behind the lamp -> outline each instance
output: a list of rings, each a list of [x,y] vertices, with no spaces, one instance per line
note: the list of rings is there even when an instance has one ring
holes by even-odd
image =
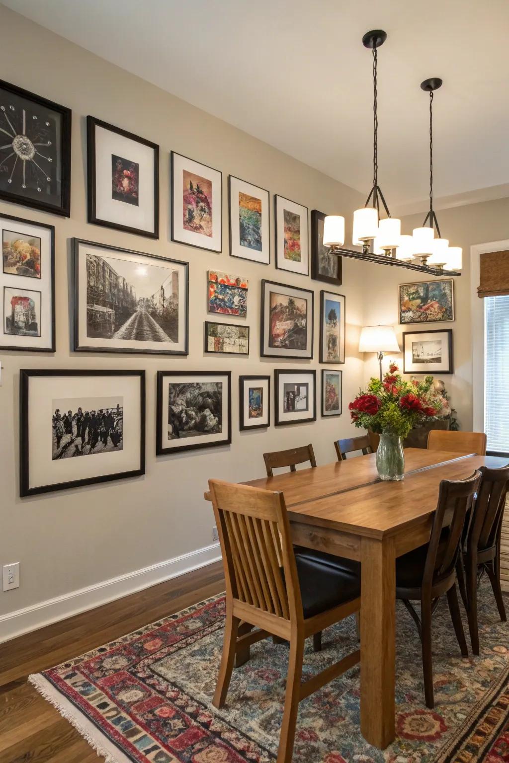
[[[422,225],[424,214],[403,217],[402,232],[411,233],[414,227]],[[430,329],[440,326],[453,329],[454,373],[450,376],[443,375],[442,378],[449,391],[451,404],[458,411],[460,427],[472,430],[472,371],[475,357],[472,352],[471,294],[472,288],[478,284],[472,284],[470,279],[470,246],[509,239],[509,199],[444,209],[437,212],[437,217],[442,236],[449,238],[451,246],[463,248],[463,271],[454,281],[454,321],[430,324]],[[393,324],[401,348],[403,330],[424,328],[417,324],[398,325],[398,284],[412,280],[414,275],[411,270],[378,267],[370,270],[367,282],[369,299],[366,299],[364,311],[366,325]],[[417,275],[416,280],[425,281],[426,277]],[[375,357],[366,355],[366,378],[377,370]],[[440,374],[437,376],[440,378]]]

